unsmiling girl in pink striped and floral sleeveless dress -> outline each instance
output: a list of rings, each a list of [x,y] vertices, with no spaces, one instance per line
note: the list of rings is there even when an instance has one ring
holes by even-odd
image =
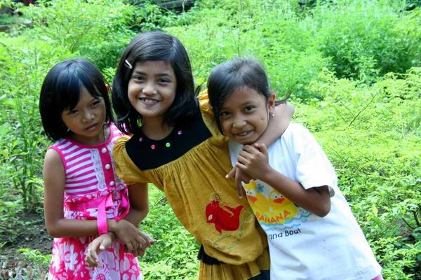
[[[149,211],[147,186],[131,185],[128,192],[114,174],[112,149],[122,134],[108,91],[85,59],[55,65],[41,88],[42,125],[56,141],[44,160],[46,228],[54,237],[48,279],[142,278],[136,257],[153,243],[138,229]],[[89,267],[85,255],[94,240],[111,246],[96,252],[98,265]]]

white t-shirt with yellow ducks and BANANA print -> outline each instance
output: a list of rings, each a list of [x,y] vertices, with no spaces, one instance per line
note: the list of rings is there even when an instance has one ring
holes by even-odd
[[[231,139],[228,145],[235,165],[242,146]],[[265,182],[243,184],[267,233],[271,279],[370,280],[379,275],[381,267],[337,186],[335,171],[309,130],[290,124],[267,151],[271,167],[305,189],[328,186],[331,202],[329,214],[321,218]]]

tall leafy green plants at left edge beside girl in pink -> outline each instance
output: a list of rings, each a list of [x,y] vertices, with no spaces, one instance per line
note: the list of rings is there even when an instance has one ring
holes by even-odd
[[[24,38],[29,41],[28,38]],[[7,41],[10,41],[8,44]],[[22,40],[23,41],[23,40]],[[0,169],[1,181],[22,196],[25,210],[40,206],[42,159],[45,152],[38,113],[38,96],[46,71],[67,52],[46,43],[15,48],[17,41],[1,43],[0,56]]]

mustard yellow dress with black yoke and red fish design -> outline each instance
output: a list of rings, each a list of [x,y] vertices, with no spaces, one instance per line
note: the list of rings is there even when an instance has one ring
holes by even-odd
[[[234,179],[225,179],[232,169],[227,138],[213,120],[206,92],[199,104],[194,122],[174,127],[165,139],[120,137],[116,174],[127,184],[154,183],[206,255],[221,262],[201,260],[199,279],[250,279],[269,269],[267,237],[246,197],[238,198]]]

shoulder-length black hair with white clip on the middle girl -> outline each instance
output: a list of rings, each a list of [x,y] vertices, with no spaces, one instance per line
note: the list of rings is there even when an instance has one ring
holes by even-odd
[[[140,34],[133,38],[116,69],[112,83],[112,103],[117,116],[119,130],[135,134],[140,131],[142,116],[131,105],[128,99],[128,82],[136,64],[147,61],[163,61],[173,68],[177,88],[175,99],[163,118],[163,124],[170,126],[185,122],[194,116],[198,109],[194,90],[192,66],[182,43],[161,31]],[[128,63],[127,63],[128,62]],[[131,68],[131,67],[132,68]]]

